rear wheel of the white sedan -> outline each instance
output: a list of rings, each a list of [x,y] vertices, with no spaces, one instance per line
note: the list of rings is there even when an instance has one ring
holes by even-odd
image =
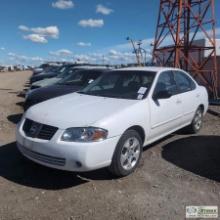
[[[201,107],[199,107],[196,110],[192,123],[187,127],[187,130],[191,134],[197,134],[201,130],[202,125],[203,125],[203,110]]]

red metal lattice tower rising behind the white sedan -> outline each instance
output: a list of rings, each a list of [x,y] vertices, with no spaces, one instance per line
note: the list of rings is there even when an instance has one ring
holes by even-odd
[[[218,98],[215,39],[214,0],[160,0],[153,61],[190,72]]]

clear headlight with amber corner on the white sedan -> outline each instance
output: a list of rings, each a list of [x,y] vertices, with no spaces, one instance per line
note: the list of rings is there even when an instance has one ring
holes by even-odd
[[[97,142],[107,138],[108,131],[102,128],[68,128],[61,140],[66,142]]]

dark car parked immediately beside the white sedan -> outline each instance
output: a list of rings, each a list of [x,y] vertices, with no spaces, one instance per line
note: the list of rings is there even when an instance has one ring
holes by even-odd
[[[27,110],[29,107],[51,98],[79,91],[107,71],[109,70],[106,68],[76,69],[55,85],[39,88],[30,92],[25,100],[24,109]]]

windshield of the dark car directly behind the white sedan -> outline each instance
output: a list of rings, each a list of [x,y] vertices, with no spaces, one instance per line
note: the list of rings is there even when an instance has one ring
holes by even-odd
[[[101,71],[95,70],[75,70],[69,73],[65,78],[61,79],[57,84],[59,85],[77,85],[84,86],[93,82]]]

